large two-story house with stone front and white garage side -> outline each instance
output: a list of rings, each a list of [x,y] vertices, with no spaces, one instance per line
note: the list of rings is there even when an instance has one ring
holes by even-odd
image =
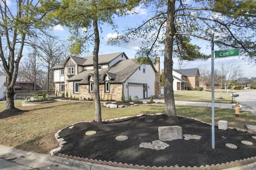
[[[69,98],[94,99],[93,57],[68,56],[62,65],[52,69],[59,96],[68,93]],[[135,96],[143,99],[155,94],[156,74],[159,72],[151,64],[138,64],[128,59],[124,52],[99,55],[98,69],[101,100],[120,101],[122,91],[125,100],[129,96],[134,100]]]

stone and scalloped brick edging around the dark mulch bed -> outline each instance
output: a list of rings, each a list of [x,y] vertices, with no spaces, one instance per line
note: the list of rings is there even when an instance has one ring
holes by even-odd
[[[120,119],[126,119],[126,118],[129,118],[129,117],[140,117],[140,116],[144,116],[144,115],[161,115],[161,114],[164,114],[164,113],[156,113],[156,114],[148,114],[148,113],[143,113],[143,114],[140,114],[140,115],[136,115],[136,116],[125,116],[125,117],[118,117],[118,118],[114,118],[114,119],[106,119],[106,120],[103,120],[103,121],[113,121],[113,120],[120,120]],[[178,116],[178,117],[182,117],[182,116]],[[194,119],[196,121],[200,121],[200,120],[197,120],[195,118],[190,118],[190,117],[184,117],[184,118],[189,118],[189,119]],[[92,122],[92,121],[81,121],[81,122]],[[204,122],[204,121],[200,121],[202,123],[206,123],[208,125],[211,125],[212,123],[207,123],[207,122]],[[78,122],[80,123],[80,122]],[[72,125],[69,125],[69,126],[66,126],[62,129],[65,129],[65,128],[73,128],[74,125],[77,124],[77,123],[74,123]],[[60,135],[59,133],[62,131],[62,129],[60,129],[57,133],[55,133],[55,138],[56,140],[59,142],[59,147],[56,148],[56,149],[53,149],[50,151],[50,154],[51,155],[55,155],[59,152],[61,152],[62,150],[62,147],[63,147],[63,144],[66,143],[66,141],[64,141],[63,138],[60,138]],[[246,129],[239,129],[239,128],[234,128],[234,127],[228,127],[228,129],[236,129],[237,131],[242,131],[242,132],[246,132],[247,130]],[[200,166],[200,167],[197,167],[197,166],[194,166],[194,167],[191,167],[191,166],[188,166],[188,167],[185,167],[185,166],[182,166],[182,167],[179,167],[179,166],[159,166],[159,167],[156,167],[156,166],[144,166],[144,165],[133,165],[133,164],[127,164],[127,163],[122,163],[122,162],[112,162],[112,161],[109,161],[107,162],[106,160],[102,161],[102,160],[97,160],[97,159],[88,159],[88,158],[80,158],[80,157],[76,157],[76,156],[72,156],[72,155],[65,155],[65,154],[61,154],[59,153],[58,156],[62,157],[62,158],[68,158],[68,159],[73,159],[73,160],[80,160],[80,161],[83,161],[83,162],[90,162],[90,163],[93,163],[93,164],[102,164],[102,165],[106,165],[106,166],[114,166],[114,167],[119,167],[119,168],[133,168],[133,169],[144,169],[144,170],[222,170],[222,169],[226,169],[226,168],[233,168],[235,166],[241,166],[241,165],[246,165],[246,164],[250,164],[250,163],[253,163],[253,162],[256,162],[256,156],[254,157],[251,157],[251,158],[244,158],[243,160],[240,159],[240,160],[235,160],[235,161],[231,161],[231,162],[226,162],[226,163],[222,163],[222,164],[212,164],[212,165],[206,165],[206,166]]]

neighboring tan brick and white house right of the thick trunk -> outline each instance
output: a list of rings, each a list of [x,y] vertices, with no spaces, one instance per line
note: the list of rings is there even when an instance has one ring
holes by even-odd
[[[173,90],[187,90],[188,88],[199,87],[199,70],[198,68],[187,68],[172,70]]]

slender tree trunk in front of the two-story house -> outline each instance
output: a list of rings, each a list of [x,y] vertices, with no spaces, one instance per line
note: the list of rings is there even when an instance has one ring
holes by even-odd
[[[95,101],[95,121],[101,122],[101,106],[100,106],[100,84],[98,69],[98,53],[100,48],[100,35],[98,30],[98,21],[94,18],[93,29],[95,35],[94,51],[93,51],[93,71],[94,71],[94,101]]]

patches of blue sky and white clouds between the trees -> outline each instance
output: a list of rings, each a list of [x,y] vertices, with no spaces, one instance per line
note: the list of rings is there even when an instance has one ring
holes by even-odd
[[[127,26],[136,26],[142,23],[142,20],[146,20],[149,15],[149,11],[147,9],[143,9],[142,6],[139,6],[138,8],[135,9],[138,15],[131,15],[131,16],[126,16],[122,18],[116,18],[116,23],[118,23],[118,31],[119,33],[122,33],[122,30],[125,29]],[[126,55],[129,57],[129,59],[133,59],[136,51],[139,49],[140,42],[138,41],[133,41],[129,43],[128,45],[122,45],[122,46],[112,46],[112,45],[107,45],[107,40],[109,37],[114,37],[116,33],[112,29],[112,27],[108,25],[103,25],[103,32],[100,34],[100,51],[99,54],[108,54],[108,53],[117,53],[117,52],[125,52]],[[54,34],[61,37],[62,39],[68,39],[68,31],[64,29],[61,25],[57,25],[54,27]],[[206,41],[196,41],[196,45],[201,47],[201,52],[210,55],[211,54],[211,49],[210,49],[210,42]],[[215,49],[217,51],[219,49]],[[89,50],[90,53],[83,54],[84,57],[88,55],[92,55],[93,49]],[[160,57],[160,68],[164,69],[164,56],[159,56]],[[222,62],[224,63],[229,63],[231,62],[232,64],[237,64],[240,65],[240,68],[242,70],[243,77],[256,77],[256,66],[254,64],[249,63],[247,60],[242,60],[242,56],[240,57],[229,57],[229,58],[222,58],[222,59],[215,59],[214,60],[214,68],[218,67],[218,65]],[[174,69],[178,69],[178,61],[176,58],[174,60]],[[197,61],[192,61],[189,62],[185,68],[196,68],[200,66],[206,66],[209,69],[211,69],[211,59],[208,59],[207,61],[202,61],[202,60],[197,60]]]

